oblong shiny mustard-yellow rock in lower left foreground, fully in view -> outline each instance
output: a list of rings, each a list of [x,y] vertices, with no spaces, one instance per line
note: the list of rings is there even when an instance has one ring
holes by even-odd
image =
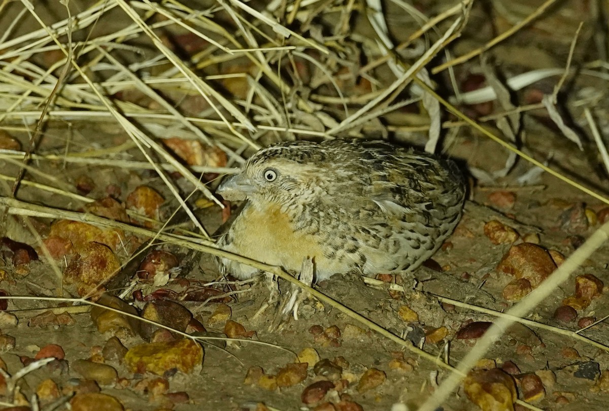
[[[127,351],[125,365],[134,373],[163,375],[178,370],[197,373],[202,367],[203,349],[191,339],[167,343],[145,343]]]

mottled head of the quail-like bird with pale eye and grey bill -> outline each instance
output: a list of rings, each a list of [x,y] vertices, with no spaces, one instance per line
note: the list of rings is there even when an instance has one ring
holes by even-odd
[[[314,142],[266,147],[251,156],[239,174],[225,178],[216,192],[227,200],[311,202],[331,179],[325,157]]]

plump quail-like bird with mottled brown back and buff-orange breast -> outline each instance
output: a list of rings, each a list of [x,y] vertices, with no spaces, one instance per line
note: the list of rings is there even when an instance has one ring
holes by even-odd
[[[465,186],[450,160],[384,141],[282,142],[256,152],[217,191],[248,200],[217,245],[315,278],[410,272],[452,233]],[[257,270],[218,259],[237,278]]]

